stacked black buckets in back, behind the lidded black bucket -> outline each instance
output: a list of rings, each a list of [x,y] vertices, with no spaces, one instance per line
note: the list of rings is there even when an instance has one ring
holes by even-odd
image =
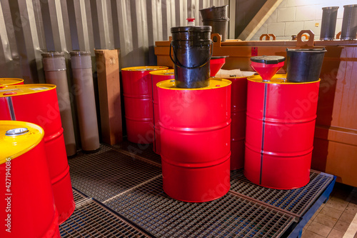
[[[228,37],[228,5],[211,6],[207,9],[200,9],[203,26],[212,26],[212,33],[221,35],[221,41],[226,41]]]

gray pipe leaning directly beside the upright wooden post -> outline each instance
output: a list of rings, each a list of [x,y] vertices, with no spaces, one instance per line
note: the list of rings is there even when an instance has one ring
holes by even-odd
[[[91,52],[72,51],[71,67],[76,86],[75,96],[82,149],[94,151],[99,149],[99,132],[91,71]]]

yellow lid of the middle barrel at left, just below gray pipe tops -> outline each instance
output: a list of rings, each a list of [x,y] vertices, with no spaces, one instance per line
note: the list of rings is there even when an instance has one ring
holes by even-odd
[[[0,89],[0,97],[4,96],[19,96],[24,94],[35,94],[40,91],[49,91],[56,89],[54,84],[19,84],[5,86]]]

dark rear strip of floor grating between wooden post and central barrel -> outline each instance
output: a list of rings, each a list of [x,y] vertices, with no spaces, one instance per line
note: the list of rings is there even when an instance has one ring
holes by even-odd
[[[135,144],[124,139],[123,142],[112,147],[123,149],[131,153],[133,157],[142,157],[161,164],[161,157],[153,151],[153,144]]]

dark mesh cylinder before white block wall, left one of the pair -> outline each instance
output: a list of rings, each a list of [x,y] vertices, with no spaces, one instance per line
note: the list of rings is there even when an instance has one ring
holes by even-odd
[[[326,6],[322,8],[321,41],[331,41],[335,39],[337,11],[338,6]]]

